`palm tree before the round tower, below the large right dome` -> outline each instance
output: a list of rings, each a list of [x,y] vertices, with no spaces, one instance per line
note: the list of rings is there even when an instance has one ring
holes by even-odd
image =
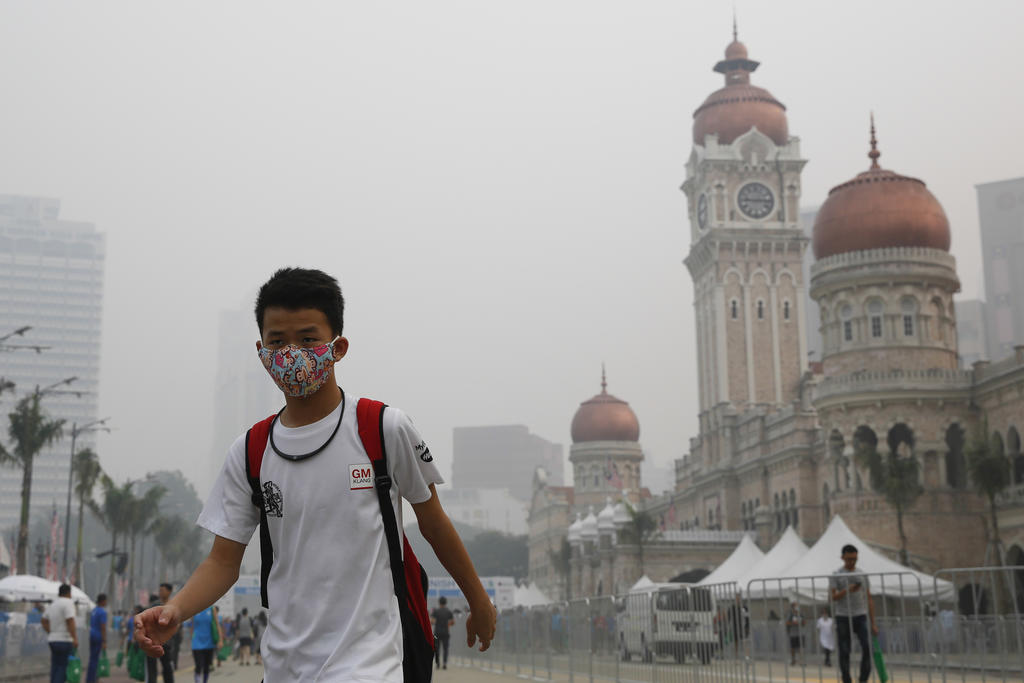
[[[861,467],[866,467],[870,475],[871,488],[882,494],[886,503],[896,511],[896,526],[899,529],[899,561],[909,566],[907,538],[903,530],[903,515],[916,503],[925,487],[921,485],[921,464],[913,457],[913,434],[909,428],[897,425],[889,433],[889,450],[879,452],[874,432],[869,434],[858,429],[854,433],[854,459]],[[858,434],[861,436],[858,437]]]

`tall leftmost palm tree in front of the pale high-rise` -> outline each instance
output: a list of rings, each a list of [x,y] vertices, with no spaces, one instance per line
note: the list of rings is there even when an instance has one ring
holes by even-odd
[[[7,416],[10,424],[7,434],[13,449],[0,445],[0,464],[22,467],[22,517],[17,525],[17,569],[28,567],[29,506],[32,501],[32,466],[36,456],[45,446],[63,434],[63,420],[50,420],[39,404],[42,395],[37,391],[17,401],[14,412]]]

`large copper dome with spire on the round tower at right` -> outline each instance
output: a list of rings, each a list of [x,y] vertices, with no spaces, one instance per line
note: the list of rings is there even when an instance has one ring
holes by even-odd
[[[881,168],[871,123],[871,167],[837,185],[814,220],[814,258],[887,247],[949,251],[949,220],[918,178]]]

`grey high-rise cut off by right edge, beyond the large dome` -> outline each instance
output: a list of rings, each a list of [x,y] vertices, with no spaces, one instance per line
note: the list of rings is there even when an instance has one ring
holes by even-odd
[[[988,359],[1024,344],[1024,178],[977,185]]]

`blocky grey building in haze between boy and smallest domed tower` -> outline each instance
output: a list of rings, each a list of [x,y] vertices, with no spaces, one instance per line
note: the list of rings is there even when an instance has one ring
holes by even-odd
[[[524,425],[456,427],[453,452],[454,488],[508,488],[528,501],[538,467],[547,470],[552,485],[562,483],[562,445]]]

